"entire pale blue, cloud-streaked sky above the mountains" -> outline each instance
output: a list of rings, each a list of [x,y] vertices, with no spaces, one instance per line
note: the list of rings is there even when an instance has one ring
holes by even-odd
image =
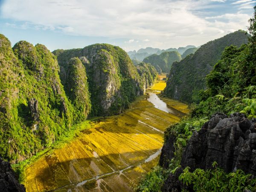
[[[0,0],[0,33],[55,49],[200,46],[247,30],[256,0]]]

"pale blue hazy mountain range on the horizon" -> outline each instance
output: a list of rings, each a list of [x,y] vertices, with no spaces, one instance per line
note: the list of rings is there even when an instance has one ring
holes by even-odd
[[[187,49],[191,49],[191,48],[197,48],[194,45],[188,45],[186,47],[179,47],[178,49],[176,48],[169,48],[169,49],[158,49],[158,48],[152,48],[152,47],[147,47],[145,49],[139,49],[138,51],[134,50],[134,51],[129,51],[127,52],[127,54],[129,55],[129,57],[132,60],[139,60],[139,61],[143,61],[144,58],[153,55],[153,54],[157,54],[160,55],[163,52],[169,52],[169,51],[177,51],[180,53],[180,55],[182,55]]]

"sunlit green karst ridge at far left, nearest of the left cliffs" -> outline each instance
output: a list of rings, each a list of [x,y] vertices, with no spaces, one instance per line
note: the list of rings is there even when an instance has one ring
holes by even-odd
[[[55,56],[41,44],[11,47],[0,35],[0,154],[20,161],[51,145],[76,119]]]

